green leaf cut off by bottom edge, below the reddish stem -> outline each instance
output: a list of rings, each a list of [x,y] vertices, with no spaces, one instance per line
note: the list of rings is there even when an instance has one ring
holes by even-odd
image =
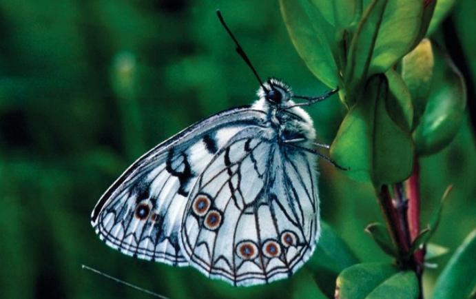
[[[418,282],[411,271],[401,272],[393,265],[365,263],[342,271],[337,280],[336,298],[417,298]]]

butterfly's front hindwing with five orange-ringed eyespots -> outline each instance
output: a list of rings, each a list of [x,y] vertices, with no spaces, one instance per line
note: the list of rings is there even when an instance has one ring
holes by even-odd
[[[233,285],[291,276],[319,235],[316,181],[315,157],[271,128],[231,138],[189,196],[180,241],[190,265]]]

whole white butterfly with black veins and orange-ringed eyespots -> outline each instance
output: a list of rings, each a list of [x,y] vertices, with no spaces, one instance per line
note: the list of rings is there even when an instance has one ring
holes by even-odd
[[[191,125],[127,168],[92,211],[96,234],[123,254],[231,285],[291,276],[320,236],[319,153],[300,106],[335,92],[307,98],[260,81],[253,105]]]

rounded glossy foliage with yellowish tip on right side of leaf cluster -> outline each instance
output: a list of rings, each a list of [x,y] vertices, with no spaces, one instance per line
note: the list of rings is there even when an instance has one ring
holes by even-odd
[[[427,39],[403,59],[402,76],[415,103],[417,152],[433,154],[453,140],[463,120],[464,80],[448,55]]]

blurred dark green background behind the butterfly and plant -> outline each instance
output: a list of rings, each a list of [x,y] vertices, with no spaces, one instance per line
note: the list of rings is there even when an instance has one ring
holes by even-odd
[[[1,298],[151,298],[81,264],[169,298],[289,298],[309,279],[299,271],[268,286],[228,287],[194,269],[125,256],[90,226],[96,201],[135,158],[201,118],[256,99],[258,83],[216,8],[261,76],[298,94],[326,91],[294,50],[277,1],[0,0]],[[459,1],[449,21],[457,37],[444,36],[459,40],[458,59],[473,78],[475,15],[473,0]],[[331,143],[344,114],[338,98],[308,111],[319,140]],[[389,261],[364,233],[381,220],[371,186],[324,161],[320,172],[322,218],[360,260]],[[422,160],[424,220],[454,185],[433,238],[451,252],[476,227],[475,173],[468,117],[449,147]],[[426,270],[427,293],[448,258]]]

